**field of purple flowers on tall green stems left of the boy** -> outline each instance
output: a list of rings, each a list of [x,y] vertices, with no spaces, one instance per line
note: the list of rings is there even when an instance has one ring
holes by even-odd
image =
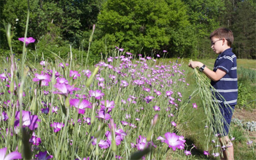
[[[196,104],[182,97],[189,85],[182,64],[121,49],[112,54],[91,70],[59,58],[28,63],[21,73],[14,56],[3,60],[1,152],[28,159],[163,159],[171,148],[189,156],[179,115]]]

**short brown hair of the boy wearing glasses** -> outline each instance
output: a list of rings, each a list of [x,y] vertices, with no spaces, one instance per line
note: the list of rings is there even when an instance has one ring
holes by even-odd
[[[216,38],[225,38],[227,40],[227,44],[229,47],[231,47],[232,43],[234,42],[234,36],[230,29],[227,28],[218,28],[215,31],[213,31],[210,35],[210,40],[212,37]]]

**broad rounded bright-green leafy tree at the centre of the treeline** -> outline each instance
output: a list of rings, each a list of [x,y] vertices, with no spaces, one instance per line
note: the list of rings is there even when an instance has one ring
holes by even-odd
[[[130,52],[184,54],[189,22],[181,1],[107,1],[98,17],[101,40]],[[171,56],[171,55],[169,55]],[[173,55],[172,55],[173,56]]]

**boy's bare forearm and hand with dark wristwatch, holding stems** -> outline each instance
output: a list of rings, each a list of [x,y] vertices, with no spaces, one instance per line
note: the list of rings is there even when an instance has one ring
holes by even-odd
[[[188,66],[191,68],[196,68],[196,67],[202,67],[204,64],[201,63],[200,61],[191,61],[189,62]],[[221,70],[218,68],[216,72],[210,70],[209,68],[205,67],[204,68],[204,74],[209,77],[212,81],[219,81],[223,76],[225,76],[226,72],[224,70]]]

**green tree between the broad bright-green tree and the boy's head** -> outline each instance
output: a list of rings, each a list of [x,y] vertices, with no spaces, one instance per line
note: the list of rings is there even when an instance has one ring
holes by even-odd
[[[211,56],[209,35],[220,27],[220,15],[223,15],[225,4],[221,0],[183,0],[188,6],[189,22],[193,25],[196,43],[196,56]],[[214,54],[213,54],[214,55]]]

